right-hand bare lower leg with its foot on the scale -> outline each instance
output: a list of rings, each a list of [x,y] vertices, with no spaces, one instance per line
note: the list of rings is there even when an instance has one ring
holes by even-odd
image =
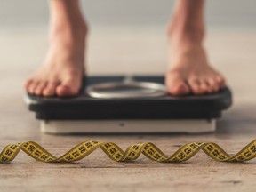
[[[204,51],[204,0],[177,0],[168,38],[170,68],[165,84],[172,95],[218,92],[225,86]]]

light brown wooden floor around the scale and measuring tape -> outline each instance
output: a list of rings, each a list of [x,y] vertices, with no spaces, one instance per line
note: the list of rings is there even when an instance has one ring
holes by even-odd
[[[89,73],[132,73],[132,68],[136,73],[163,73],[164,32],[147,29],[145,35],[145,31],[140,29],[136,36],[134,32],[129,36],[129,30],[116,30],[116,34],[107,30],[101,36],[95,29]],[[54,136],[40,133],[34,114],[28,112],[22,100],[24,78],[44,59],[44,31],[0,33],[0,148],[35,140],[60,156],[83,140],[112,141],[122,148],[151,141],[171,155],[189,141],[211,141],[235,154],[256,139],[255,44],[256,35],[250,31],[217,30],[208,36],[206,46],[212,63],[227,76],[234,93],[234,105],[218,121],[215,133]],[[217,163],[203,152],[184,164],[158,164],[144,156],[132,163],[115,163],[99,149],[74,164],[44,164],[20,153],[12,164],[0,164],[0,191],[255,191],[255,163]]]

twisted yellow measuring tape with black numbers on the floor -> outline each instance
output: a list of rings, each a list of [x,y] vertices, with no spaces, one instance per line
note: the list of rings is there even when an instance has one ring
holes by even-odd
[[[252,140],[247,146],[236,155],[229,156],[216,143],[191,142],[180,147],[172,156],[166,156],[153,143],[140,143],[129,146],[125,151],[112,142],[84,141],[74,148],[71,148],[63,156],[56,157],[33,141],[10,144],[0,153],[0,163],[11,162],[20,150],[37,161],[45,163],[75,162],[91,154],[97,148],[101,148],[104,153],[113,161],[124,162],[137,159],[140,154],[156,162],[179,163],[188,161],[192,156],[202,149],[204,153],[219,162],[244,162],[256,156],[256,140]]]

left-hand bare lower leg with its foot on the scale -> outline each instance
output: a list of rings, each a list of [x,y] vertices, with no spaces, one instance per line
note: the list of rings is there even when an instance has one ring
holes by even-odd
[[[84,76],[87,27],[78,0],[51,0],[50,47],[44,65],[28,78],[26,90],[43,96],[79,92]]]

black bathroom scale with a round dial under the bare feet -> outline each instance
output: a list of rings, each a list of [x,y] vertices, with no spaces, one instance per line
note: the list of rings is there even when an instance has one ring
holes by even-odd
[[[164,76],[87,76],[76,97],[25,95],[47,133],[214,132],[232,103],[220,92],[175,97]]]

